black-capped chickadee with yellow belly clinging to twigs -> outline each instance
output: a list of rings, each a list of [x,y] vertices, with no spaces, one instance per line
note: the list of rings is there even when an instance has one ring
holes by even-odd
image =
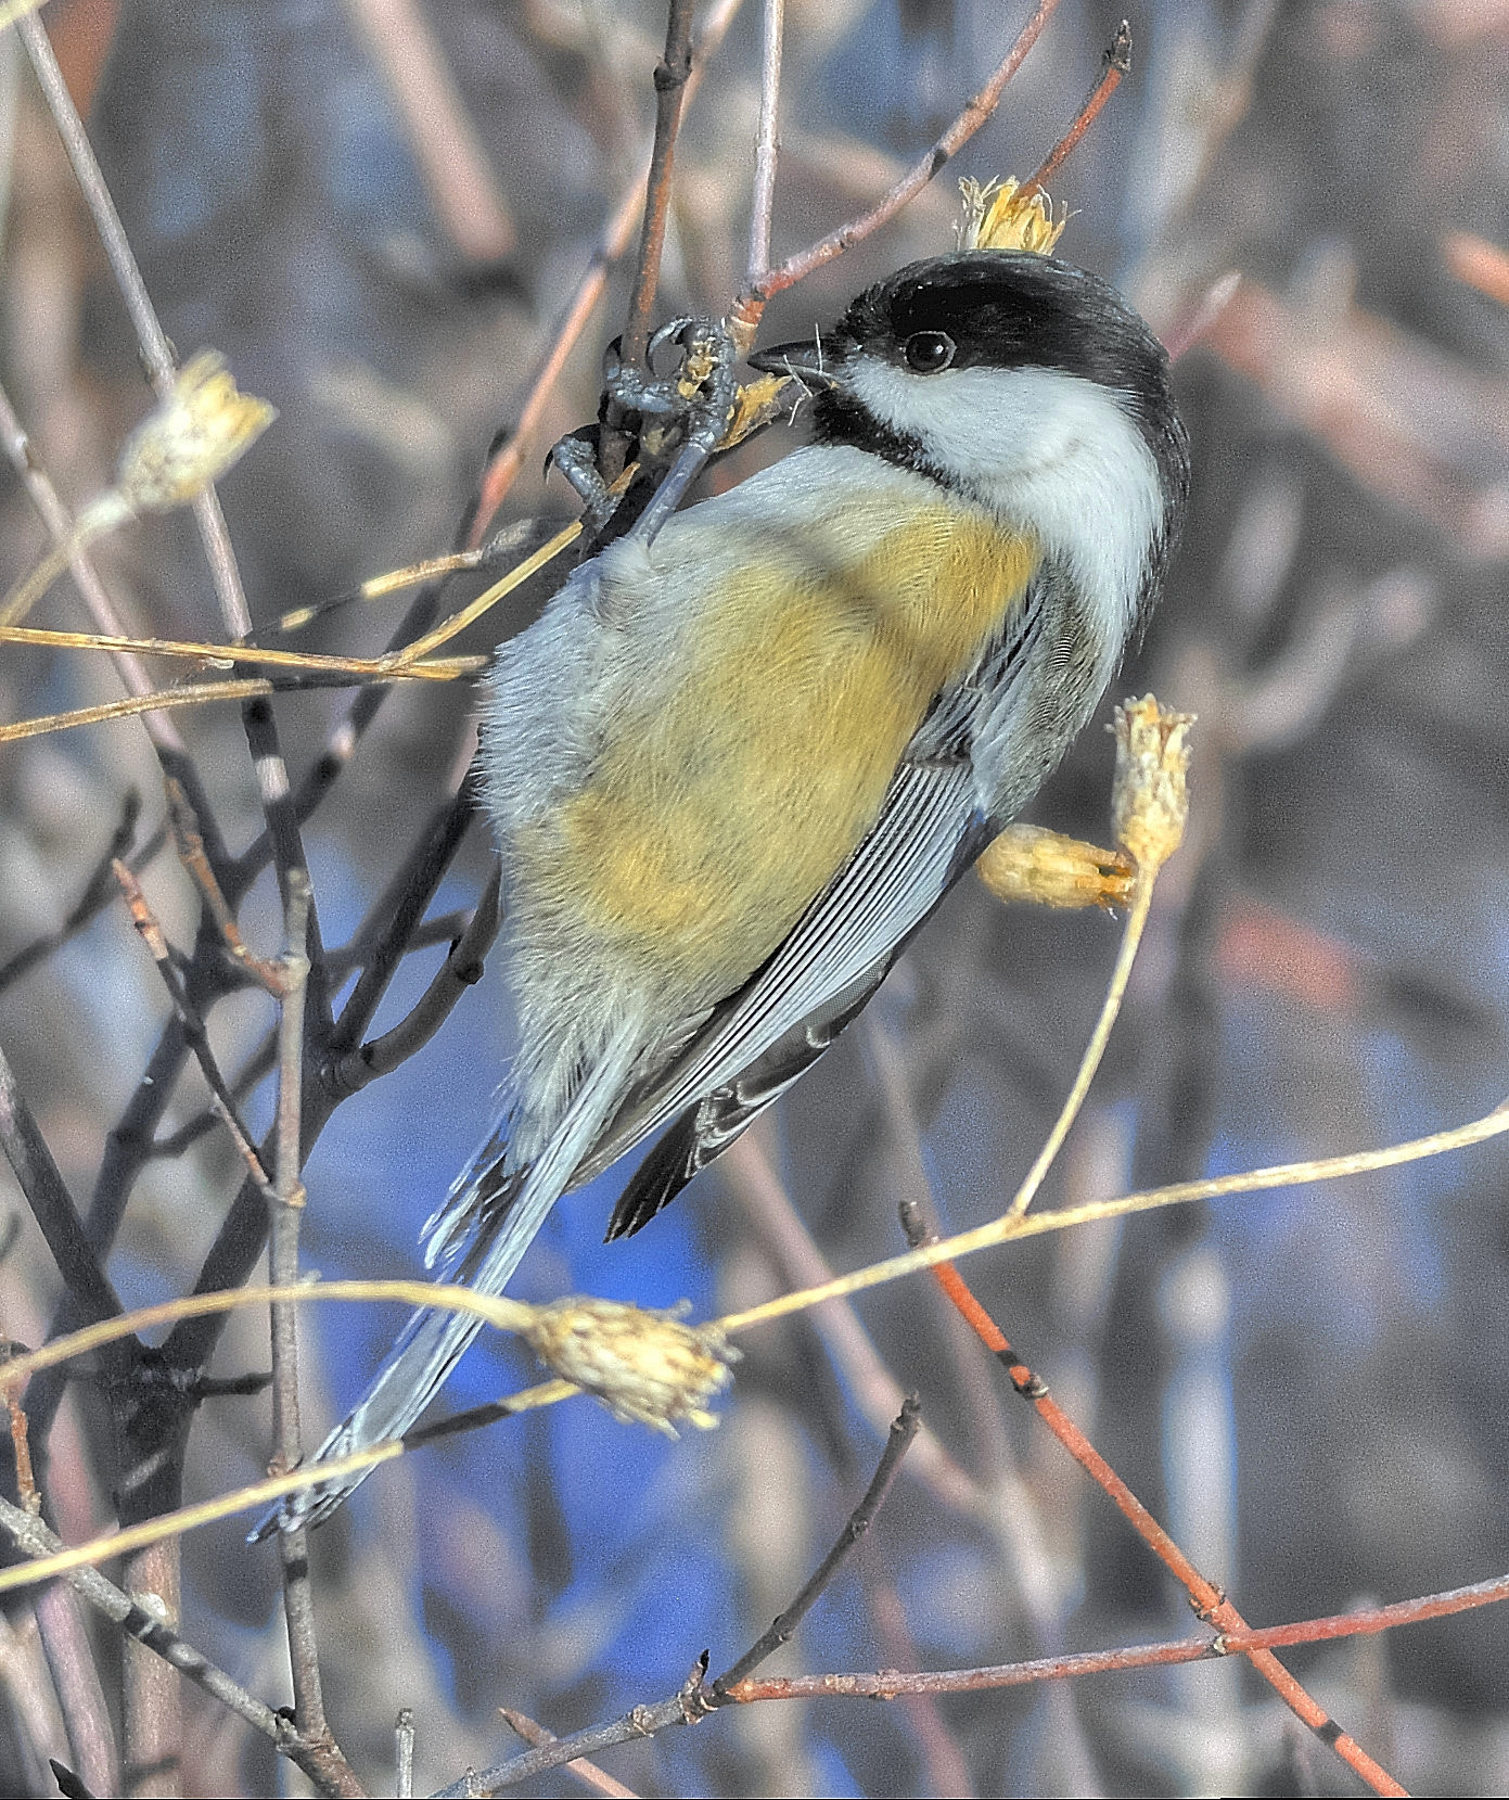
[[[661,1132],[637,1231],[823,1055],[1064,756],[1179,535],[1169,360],[1068,263],[913,263],[749,360],[816,392],[816,443],[610,544],[488,675],[519,1053],[427,1229],[488,1294],[562,1193]],[[477,1330],[416,1312],[321,1456],[407,1431]]]

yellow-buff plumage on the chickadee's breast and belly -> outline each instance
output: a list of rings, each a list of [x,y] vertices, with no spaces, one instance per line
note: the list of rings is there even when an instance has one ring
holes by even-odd
[[[938,506],[846,565],[745,567],[672,698],[621,716],[589,785],[517,835],[533,923],[560,954],[585,932],[681,1004],[729,992],[854,853],[1035,560],[985,515]]]

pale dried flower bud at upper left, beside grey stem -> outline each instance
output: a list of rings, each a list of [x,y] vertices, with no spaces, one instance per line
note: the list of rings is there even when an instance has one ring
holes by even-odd
[[[133,513],[187,506],[230,468],[277,418],[241,394],[220,351],[202,349],[126,439],[115,491]]]

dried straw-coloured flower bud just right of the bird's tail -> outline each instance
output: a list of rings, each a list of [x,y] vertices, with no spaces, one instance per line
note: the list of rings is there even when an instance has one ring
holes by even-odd
[[[682,1325],[688,1310],[648,1312],[616,1300],[556,1300],[524,1337],[565,1381],[623,1420],[673,1438],[677,1424],[711,1431],[706,1402],[729,1382],[738,1350],[711,1325]]]

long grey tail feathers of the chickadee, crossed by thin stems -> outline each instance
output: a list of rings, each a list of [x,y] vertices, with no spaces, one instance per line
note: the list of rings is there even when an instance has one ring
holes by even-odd
[[[501,1294],[524,1251],[546,1222],[551,1206],[571,1184],[576,1165],[623,1100],[628,1071],[639,1049],[639,1033],[625,1024],[607,1044],[571,1096],[560,1125],[535,1157],[519,1188],[479,1226],[481,1235],[461,1260],[459,1278],[481,1294]],[[497,1188],[504,1150],[493,1132],[454,1190],[447,1215],[457,1217],[468,1197]],[[403,1436],[439,1393],[483,1321],[466,1312],[421,1307],[403,1327],[371,1386],[331,1431],[315,1462],[349,1456],[387,1438]],[[268,1512],[248,1534],[250,1543],[268,1537],[281,1521],[321,1525],[367,1478],[371,1471],[342,1476],[324,1487],[303,1489],[294,1499]]]

